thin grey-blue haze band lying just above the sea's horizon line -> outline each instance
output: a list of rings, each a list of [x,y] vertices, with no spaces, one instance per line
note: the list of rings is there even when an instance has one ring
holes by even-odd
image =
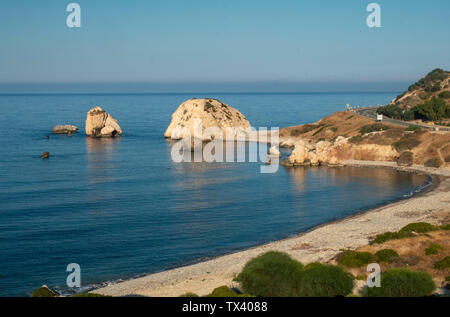
[[[103,82],[0,83],[0,94],[201,94],[392,92],[411,82]]]

